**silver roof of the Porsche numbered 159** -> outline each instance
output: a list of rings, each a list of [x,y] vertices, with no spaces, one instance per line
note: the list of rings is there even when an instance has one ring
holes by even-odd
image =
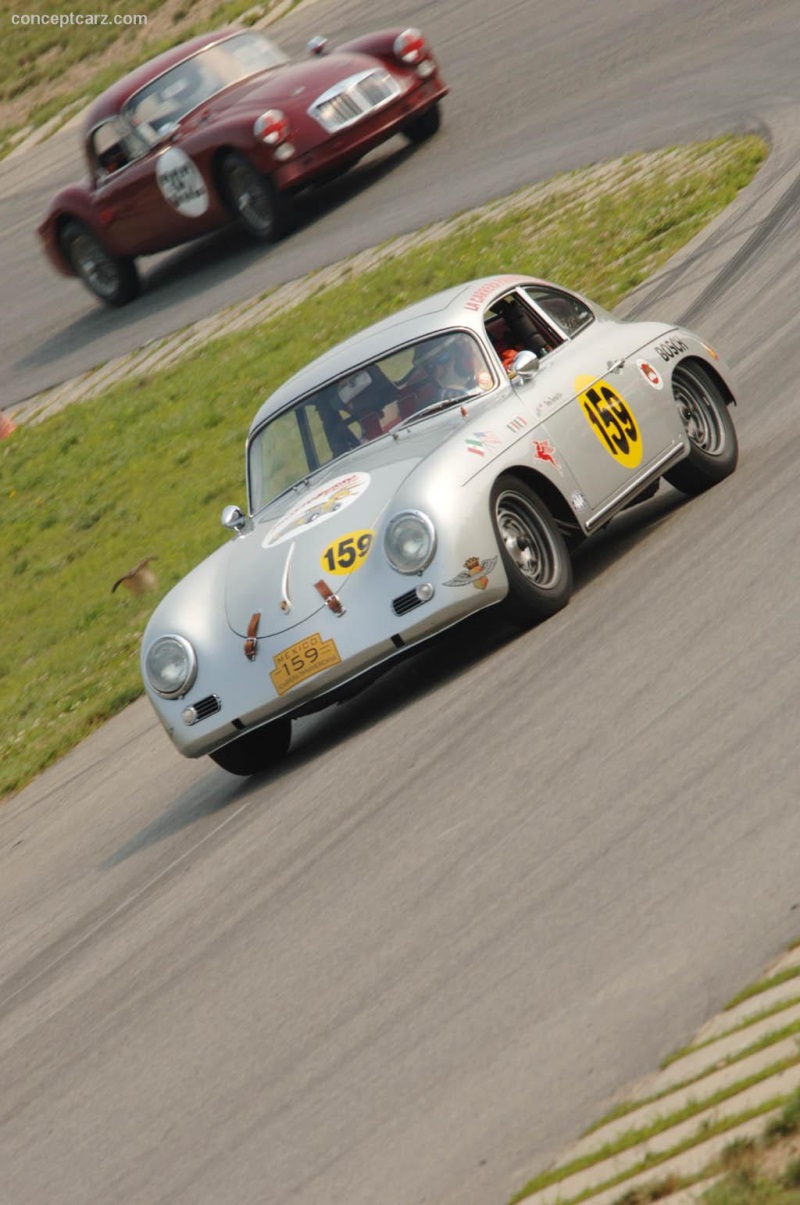
[[[543,284],[534,276],[499,275],[455,284],[441,293],[399,310],[381,322],[365,327],[342,343],[331,347],[306,368],[289,377],[261,405],[251,424],[251,431],[272,415],[278,413],[298,398],[319,388],[325,382],[384,355],[394,347],[454,328],[482,331],[483,311],[516,284]]]

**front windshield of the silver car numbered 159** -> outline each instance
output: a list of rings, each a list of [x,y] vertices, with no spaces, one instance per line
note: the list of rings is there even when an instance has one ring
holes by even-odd
[[[247,471],[253,513],[353,448],[495,383],[481,345],[466,331],[419,340],[330,381],[252,437]]]

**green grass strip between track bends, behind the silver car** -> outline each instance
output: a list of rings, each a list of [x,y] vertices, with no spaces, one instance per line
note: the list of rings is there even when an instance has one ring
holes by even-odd
[[[631,159],[596,196],[584,195],[581,174],[566,177],[549,201],[467,222],[0,442],[0,798],[141,693],[137,653],[153,595],[112,594],[112,583],[155,556],[166,592],[222,542],[222,506],[245,501],[248,423],[306,363],[308,331],[319,353],[367,316],[506,269],[613,306],[719,212],[764,155],[758,139],[731,137],[665,153],[645,175]]]

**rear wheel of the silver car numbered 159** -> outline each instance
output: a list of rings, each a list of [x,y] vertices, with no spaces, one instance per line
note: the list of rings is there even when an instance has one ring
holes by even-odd
[[[684,494],[701,494],[736,468],[736,428],[722,389],[700,365],[676,366],[672,395],[689,436],[690,451],[664,476]]]

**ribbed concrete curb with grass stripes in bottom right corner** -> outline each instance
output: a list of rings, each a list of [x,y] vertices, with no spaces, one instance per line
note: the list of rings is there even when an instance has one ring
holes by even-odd
[[[793,977],[769,986],[783,974]],[[678,1058],[641,1081],[624,1115],[569,1147],[545,1174],[558,1178],[523,1198],[525,1205],[613,1205],[634,1192],[670,1205],[698,1200],[719,1178],[714,1160],[725,1148],[758,1141],[800,1091],[800,1033],[782,1036],[800,1024],[800,950],[782,956],[761,982],[760,991],[704,1025]],[[725,1128],[711,1133],[719,1127]],[[667,1197],[663,1189],[672,1180],[695,1183]]]

